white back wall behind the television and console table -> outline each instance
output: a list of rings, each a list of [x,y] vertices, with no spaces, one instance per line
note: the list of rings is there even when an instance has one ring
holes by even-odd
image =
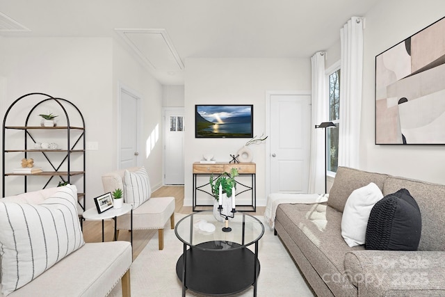
[[[310,59],[188,58],[185,74],[185,199],[192,204],[192,164],[211,152],[217,161],[230,161],[247,138],[195,138],[195,104],[254,104],[254,134],[266,131],[266,92],[310,90]],[[192,125],[192,127],[191,127]],[[257,163],[257,205],[266,203],[265,144],[250,146]]]

